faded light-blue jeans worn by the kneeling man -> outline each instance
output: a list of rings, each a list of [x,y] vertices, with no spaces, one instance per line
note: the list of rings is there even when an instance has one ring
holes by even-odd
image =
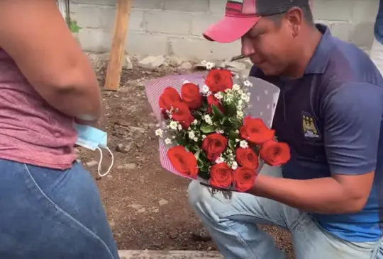
[[[281,177],[280,168],[265,166],[263,174]],[[306,213],[282,203],[233,192],[232,200],[193,181],[189,201],[226,259],[282,259],[271,236],[256,224],[274,224],[293,236],[296,259],[377,258],[379,242],[350,243],[324,230]]]

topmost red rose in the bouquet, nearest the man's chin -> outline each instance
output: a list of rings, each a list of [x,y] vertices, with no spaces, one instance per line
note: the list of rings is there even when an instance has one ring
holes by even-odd
[[[226,89],[233,88],[233,77],[231,71],[227,69],[211,69],[205,80],[211,92],[224,92]]]

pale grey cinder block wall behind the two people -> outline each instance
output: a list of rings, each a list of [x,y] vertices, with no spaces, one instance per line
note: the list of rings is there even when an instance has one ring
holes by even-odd
[[[379,0],[315,0],[316,21],[331,26],[334,35],[364,50],[373,41]],[[223,15],[225,0],[133,0],[126,52],[176,55],[196,59],[226,59],[240,54],[240,42],[217,44],[201,37]],[[71,17],[81,27],[82,48],[108,52],[116,0],[71,0]]]

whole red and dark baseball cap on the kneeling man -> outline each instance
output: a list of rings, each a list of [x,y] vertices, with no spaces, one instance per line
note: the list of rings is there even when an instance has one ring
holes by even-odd
[[[229,0],[225,16],[203,35],[211,41],[233,42],[248,33],[262,16],[285,13],[292,7],[308,4],[309,0]]]

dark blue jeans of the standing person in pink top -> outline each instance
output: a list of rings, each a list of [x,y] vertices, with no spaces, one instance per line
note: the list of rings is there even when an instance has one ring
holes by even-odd
[[[0,258],[118,259],[91,175],[0,159]]]

